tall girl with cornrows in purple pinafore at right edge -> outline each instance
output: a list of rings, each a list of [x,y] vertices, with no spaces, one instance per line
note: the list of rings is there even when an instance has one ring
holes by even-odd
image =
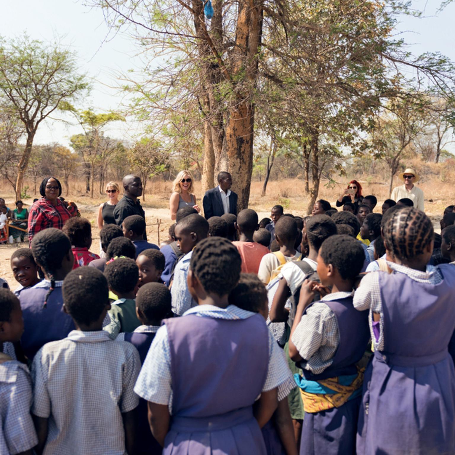
[[[354,307],[369,310],[374,357],[364,378],[357,453],[453,454],[455,268],[427,271],[433,224],[414,207],[384,225],[392,273],[368,273]]]

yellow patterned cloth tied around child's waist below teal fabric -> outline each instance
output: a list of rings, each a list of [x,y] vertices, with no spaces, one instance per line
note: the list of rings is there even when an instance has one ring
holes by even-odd
[[[300,389],[300,395],[303,401],[303,410],[305,412],[320,412],[326,411],[332,408],[339,408],[343,406],[349,397],[360,387],[364,382],[364,369],[361,369],[357,373],[357,377],[351,383],[351,385],[339,384],[338,377],[324,379],[318,381],[323,387],[327,387],[334,390],[333,394],[311,394]]]

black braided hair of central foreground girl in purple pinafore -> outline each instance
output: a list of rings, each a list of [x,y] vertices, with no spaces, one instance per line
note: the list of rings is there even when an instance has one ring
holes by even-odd
[[[242,259],[226,238],[209,237],[197,243],[190,268],[206,292],[229,294],[240,278]]]

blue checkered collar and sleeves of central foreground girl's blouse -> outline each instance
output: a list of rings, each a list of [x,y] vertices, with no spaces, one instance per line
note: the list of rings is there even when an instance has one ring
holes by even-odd
[[[227,308],[200,305],[189,309],[183,317],[187,314],[197,314],[198,316],[207,318],[235,320],[247,319],[257,313],[243,310],[234,305],[229,305]],[[263,392],[274,389],[292,378],[283,350],[280,349],[270,332],[268,348],[268,372],[263,386]],[[137,378],[134,391],[143,399],[152,401],[153,403],[167,405],[172,403],[171,349],[169,347],[165,325],[157,331],[152,346],[142,365],[141,373]]]

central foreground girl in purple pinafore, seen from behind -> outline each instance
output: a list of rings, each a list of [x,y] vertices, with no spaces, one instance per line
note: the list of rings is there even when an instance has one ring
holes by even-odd
[[[165,455],[265,455],[260,427],[277,408],[286,361],[264,318],[228,300],[240,277],[237,248],[210,237],[192,251],[187,283],[197,306],[163,321],[134,390],[148,401]]]

